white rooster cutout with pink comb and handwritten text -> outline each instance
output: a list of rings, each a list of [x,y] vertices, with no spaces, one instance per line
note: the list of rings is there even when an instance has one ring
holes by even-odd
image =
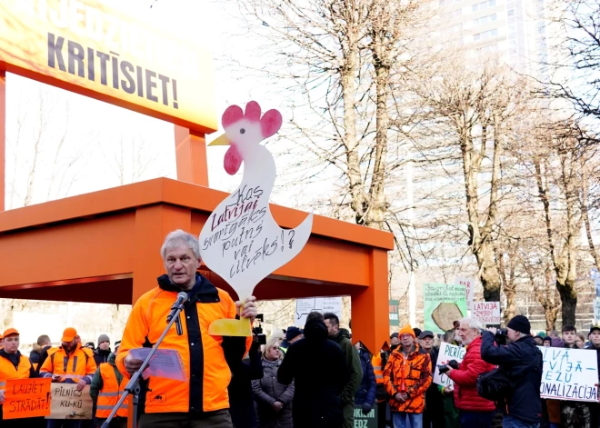
[[[244,177],[208,217],[200,232],[200,254],[244,301],[256,284],[300,253],[310,237],[313,214],[295,229],[282,229],[269,209],[275,160],[259,143],[279,131],[281,114],[269,110],[261,118],[260,105],[251,101],[245,113],[237,105],[227,107],[221,122],[225,134],[208,145],[229,145],[225,171],[233,175],[244,162]],[[249,322],[217,320],[209,333],[247,336]]]

